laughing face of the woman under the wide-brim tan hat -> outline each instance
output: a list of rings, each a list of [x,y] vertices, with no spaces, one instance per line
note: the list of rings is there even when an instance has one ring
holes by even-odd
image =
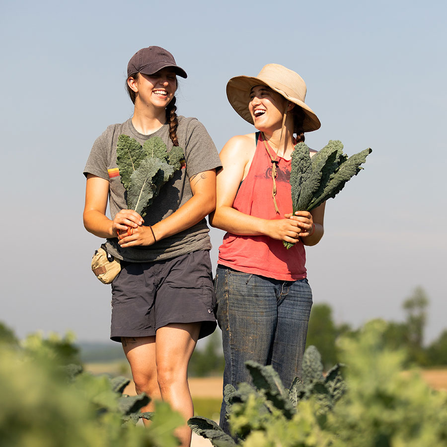
[[[255,85],[250,90],[250,111],[256,129],[267,131],[281,127],[287,99],[265,85]]]

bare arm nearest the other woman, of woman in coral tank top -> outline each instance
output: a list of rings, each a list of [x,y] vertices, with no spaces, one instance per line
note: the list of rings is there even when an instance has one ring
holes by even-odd
[[[210,216],[210,223],[233,234],[266,235],[273,239],[297,243],[300,232],[298,221],[286,218],[261,219],[241,213],[232,207],[254,150],[254,139],[249,135],[233,137],[225,144],[220,153],[223,168],[216,180],[216,211]]]

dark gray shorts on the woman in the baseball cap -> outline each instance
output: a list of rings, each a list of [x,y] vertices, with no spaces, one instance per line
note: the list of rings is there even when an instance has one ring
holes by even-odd
[[[169,323],[201,321],[199,338],[214,332],[216,294],[209,250],[122,265],[112,282],[112,340],[152,336]]]

